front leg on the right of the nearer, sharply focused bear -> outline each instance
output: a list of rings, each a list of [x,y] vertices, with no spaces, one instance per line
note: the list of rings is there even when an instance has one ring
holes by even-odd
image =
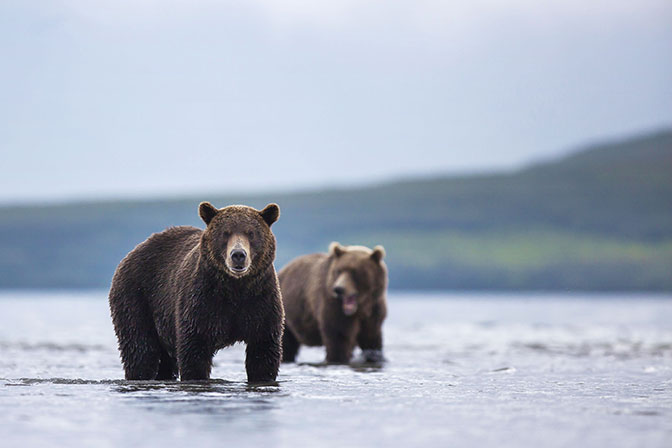
[[[245,369],[249,383],[275,381],[282,360],[282,334],[270,334],[247,341]]]

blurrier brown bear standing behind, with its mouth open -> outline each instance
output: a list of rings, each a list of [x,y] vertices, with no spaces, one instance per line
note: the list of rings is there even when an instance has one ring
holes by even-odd
[[[367,362],[383,361],[384,256],[382,246],[331,243],[329,253],[298,257],[278,273],[285,306],[283,362],[294,362],[301,344],[325,345],[328,363],[348,363],[355,344]]]

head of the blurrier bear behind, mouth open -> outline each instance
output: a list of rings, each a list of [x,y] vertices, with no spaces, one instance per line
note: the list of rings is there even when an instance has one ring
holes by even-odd
[[[387,268],[383,262],[385,249],[364,246],[329,246],[328,294],[341,302],[346,316],[357,312],[368,314],[387,287]]]

